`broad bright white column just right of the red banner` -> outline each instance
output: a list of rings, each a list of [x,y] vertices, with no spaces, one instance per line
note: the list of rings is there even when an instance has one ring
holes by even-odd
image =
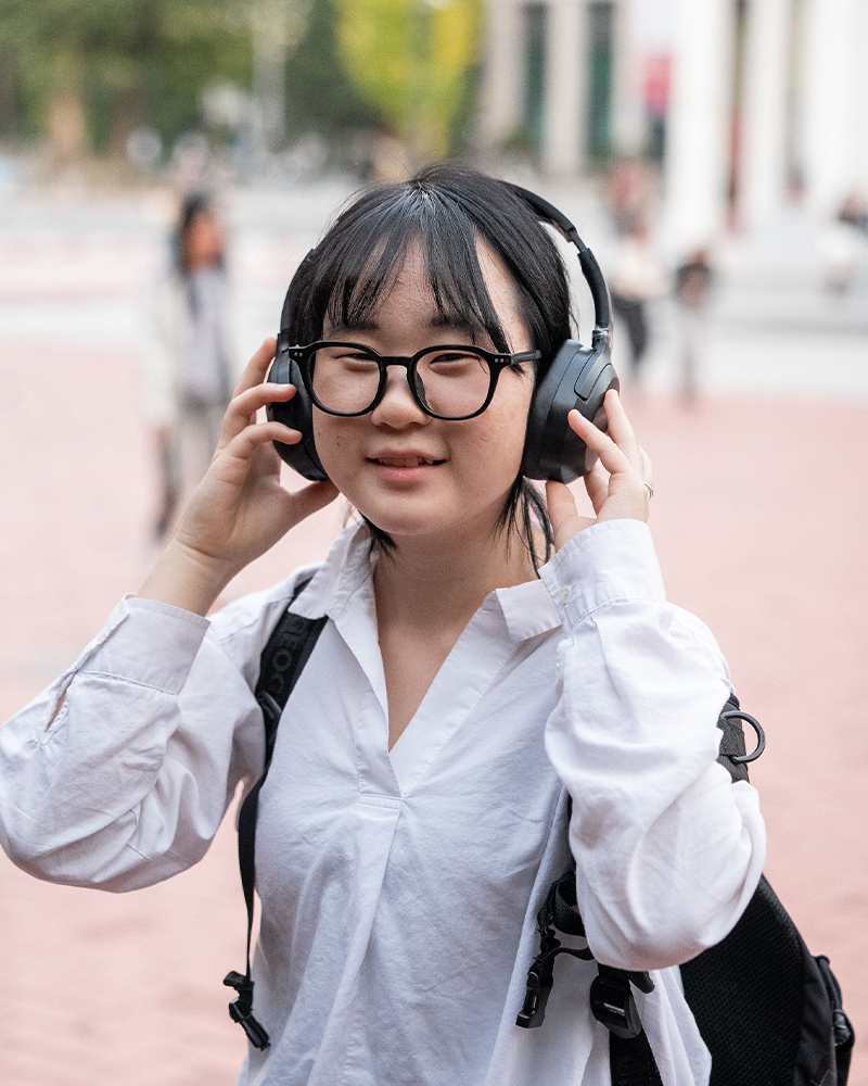
[[[677,0],[666,132],[666,237],[676,255],[723,229],[732,98],[731,0]]]

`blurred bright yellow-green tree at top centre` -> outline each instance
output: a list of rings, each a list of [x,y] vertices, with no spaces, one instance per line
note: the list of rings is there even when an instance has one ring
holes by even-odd
[[[457,149],[482,49],[482,0],[335,0],[361,98],[425,159]]]

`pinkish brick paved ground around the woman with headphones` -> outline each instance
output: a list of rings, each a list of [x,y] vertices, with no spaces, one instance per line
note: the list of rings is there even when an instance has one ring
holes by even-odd
[[[153,556],[136,356],[108,340],[61,351],[0,326],[0,719],[74,658]],[[715,631],[768,732],[753,773],[767,873],[868,1038],[868,408],[753,396],[633,408],[669,597]],[[341,516],[301,528],[231,592],[320,555]],[[196,869],[119,897],[39,883],[0,856],[0,1081],[230,1084],[243,1050],[220,985],[243,954],[233,848],[225,826]],[[868,1086],[866,1047],[853,1086]]]

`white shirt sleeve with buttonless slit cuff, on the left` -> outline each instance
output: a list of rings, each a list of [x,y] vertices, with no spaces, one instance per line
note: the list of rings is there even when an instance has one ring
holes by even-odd
[[[52,882],[150,885],[204,856],[263,749],[251,685],[209,620],[122,601],[0,729],[0,844]]]

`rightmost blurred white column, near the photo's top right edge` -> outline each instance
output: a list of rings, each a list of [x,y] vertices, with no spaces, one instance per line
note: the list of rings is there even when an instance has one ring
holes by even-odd
[[[856,181],[855,31],[864,2],[806,0],[802,161],[808,206],[822,217],[834,213]]]

